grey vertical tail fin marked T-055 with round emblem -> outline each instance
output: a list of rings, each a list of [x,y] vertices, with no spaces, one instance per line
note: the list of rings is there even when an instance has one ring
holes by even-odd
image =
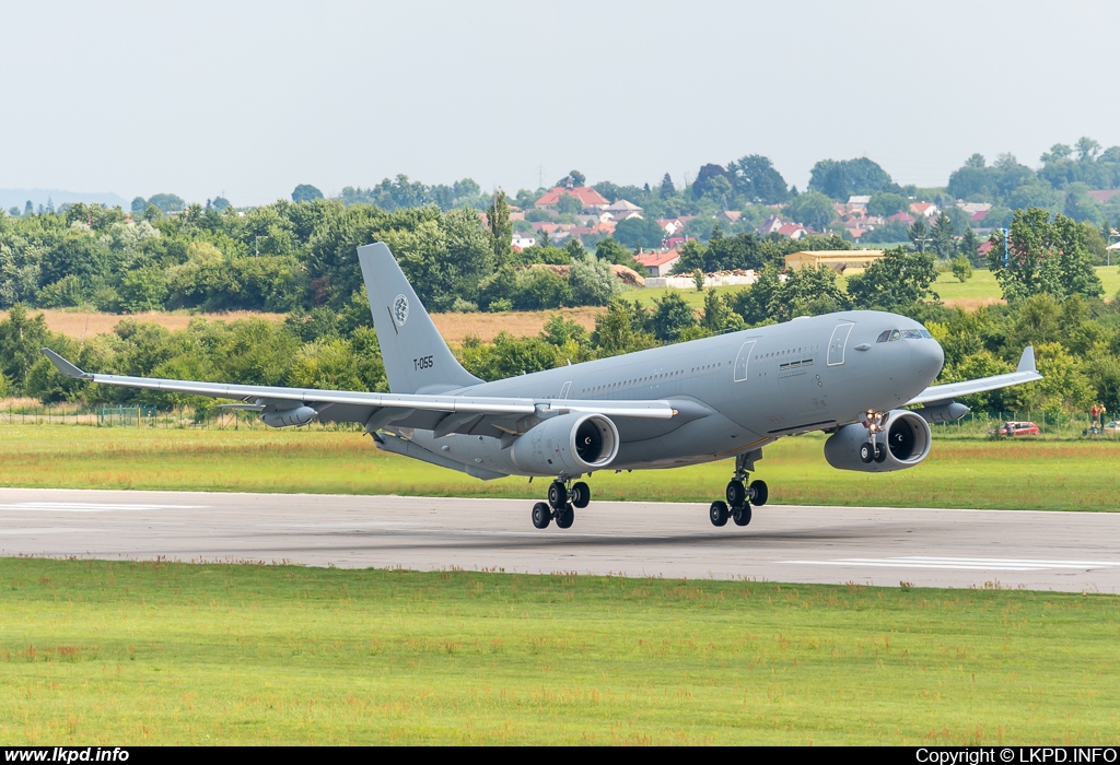
[[[451,355],[384,243],[357,248],[392,393],[441,393],[482,382]]]

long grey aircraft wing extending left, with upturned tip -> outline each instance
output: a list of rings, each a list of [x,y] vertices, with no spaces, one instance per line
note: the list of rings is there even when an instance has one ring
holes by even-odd
[[[55,353],[49,348],[43,352],[63,375],[101,385],[116,385],[125,388],[144,388],[148,390],[167,390],[170,393],[213,396],[214,398],[231,398],[241,402],[255,402],[250,408],[284,409],[282,404],[290,402],[292,406],[306,405],[315,409],[330,405],[342,412],[352,413],[345,417],[332,416],[330,419],[365,423],[375,413],[383,409],[396,410],[411,416],[414,413],[432,413],[437,422],[440,415],[463,415],[457,417],[456,428],[448,432],[459,432],[458,428],[472,419],[470,415],[501,416],[514,418],[529,415],[568,412],[587,412],[608,417],[644,417],[652,419],[669,419],[678,414],[678,409],[665,400],[576,400],[557,398],[520,398],[503,396],[448,396],[426,394],[381,394],[349,390],[319,390],[315,388],[282,388],[267,385],[235,385],[230,382],[204,382],[197,380],[168,380],[157,377],[129,377],[127,375],[99,375],[83,371]],[[277,406],[281,404],[281,406]],[[391,415],[392,413],[386,413]],[[400,422],[405,417],[384,417],[384,422]],[[473,423],[472,423],[473,424]],[[448,423],[447,425],[450,425]]]

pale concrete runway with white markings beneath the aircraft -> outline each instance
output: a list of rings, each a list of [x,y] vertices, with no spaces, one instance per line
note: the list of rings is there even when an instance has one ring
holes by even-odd
[[[1120,592],[1120,513],[0,489],[0,555]]]

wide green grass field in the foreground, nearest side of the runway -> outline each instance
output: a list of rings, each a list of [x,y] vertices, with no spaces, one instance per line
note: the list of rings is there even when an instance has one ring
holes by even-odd
[[[1113,744],[1120,599],[0,560],[27,744]]]

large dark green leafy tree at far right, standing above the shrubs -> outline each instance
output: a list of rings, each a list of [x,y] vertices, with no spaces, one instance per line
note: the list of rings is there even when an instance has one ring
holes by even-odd
[[[1004,262],[1002,232],[993,232],[988,267],[1009,303],[1048,293],[1062,300],[1072,294],[1098,298],[1103,292],[1076,221],[1057,215],[1052,221],[1040,208],[1016,210]]]

